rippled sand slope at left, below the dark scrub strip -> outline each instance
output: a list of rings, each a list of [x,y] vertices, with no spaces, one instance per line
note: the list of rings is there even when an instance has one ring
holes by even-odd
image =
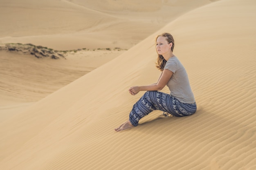
[[[54,60],[36,58],[21,51],[0,50],[0,122],[21,113],[124,51],[81,49],[64,53],[65,58]]]

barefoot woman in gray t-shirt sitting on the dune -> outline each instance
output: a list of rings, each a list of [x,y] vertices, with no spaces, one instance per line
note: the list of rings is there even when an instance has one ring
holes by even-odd
[[[136,95],[139,91],[147,92],[133,105],[129,120],[116,128],[116,131],[138,126],[139,120],[153,110],[162,110],[177,117],[195,113],[195,98],[191,91],[188,75],[173,54],[173,48],[174,40],[171,34],[162,33],[156,37],[158,53],[156,66],[162,73],[155,84],[133,86],[129,89],[131,95]],[[170,94],[159,92],[166,85],[171,91]]]

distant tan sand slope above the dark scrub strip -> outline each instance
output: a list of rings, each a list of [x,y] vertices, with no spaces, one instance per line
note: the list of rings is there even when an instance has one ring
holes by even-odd
[[[0,43],[129,49],[210,0],[0,0]]]

